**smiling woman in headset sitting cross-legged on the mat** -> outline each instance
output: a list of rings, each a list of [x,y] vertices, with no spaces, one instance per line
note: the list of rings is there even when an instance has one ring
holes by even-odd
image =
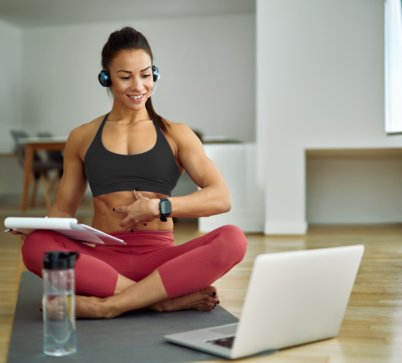
[[[88,180],[92,227],[127,246],[90,247],[52,231],[35,231],[22,247],[25,265],[39,276],[45,251],[80,253],[75,264],[77,317],[113,318],[144,307],[212,310],[219,294],[211,283],[246,253],[247,240],[235,226],[173,244],[171,217],[224,213],[231,201],[223,176],[197,136],[153,110],[149,96],[157,68],[152,60],[140,32],[126,27],[110,35],[99,81],[113,93],[112,110],[70,133],[63,177],[47,213],[73,217]],[[202,189],[170,197],[184,171]]]

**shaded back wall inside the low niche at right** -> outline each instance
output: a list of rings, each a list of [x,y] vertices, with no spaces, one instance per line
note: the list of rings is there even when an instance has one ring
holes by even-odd
[[[307,160],[309,224],[400,223],[402,160]]]

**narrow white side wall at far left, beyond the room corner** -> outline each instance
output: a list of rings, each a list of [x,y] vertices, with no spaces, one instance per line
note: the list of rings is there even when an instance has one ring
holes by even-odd
[[[21,30],[0,21],[0,153],[14,149],[11,129],[22,128],[22,108],[26,100],[22,97]]]

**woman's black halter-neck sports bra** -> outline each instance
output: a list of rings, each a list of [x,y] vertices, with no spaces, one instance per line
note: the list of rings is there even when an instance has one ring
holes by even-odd
[[[151,150],[134,155],[116,154],[107,150],[102,142],[109,113],[84,157],[85,175],[93,197],[134,189],[171,196],[181,172],[158,124],[152,120],[157,137]]]

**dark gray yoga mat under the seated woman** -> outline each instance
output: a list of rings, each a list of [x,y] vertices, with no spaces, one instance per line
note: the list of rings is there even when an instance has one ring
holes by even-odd
[[[65,357],[51,357],[42,352],[43,325],[39,310],[42,291],[41,278],[32,272],[22,273],[8,363],[173,363],[220,359],[168,343],[163,335],[238,321],[219,305],[211,312],[157,313],[142,309],[111,320],[78,319],[77,352]]]

